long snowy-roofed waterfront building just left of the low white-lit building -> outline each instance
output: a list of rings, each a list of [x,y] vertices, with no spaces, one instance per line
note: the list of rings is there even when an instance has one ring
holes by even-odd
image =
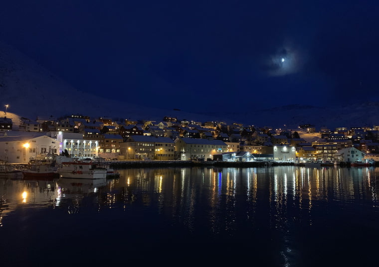
[[[177,138],[175,139],[175,151],[182,160],[213,158],[213,155],[224,153],[227,145],[221,140]]]

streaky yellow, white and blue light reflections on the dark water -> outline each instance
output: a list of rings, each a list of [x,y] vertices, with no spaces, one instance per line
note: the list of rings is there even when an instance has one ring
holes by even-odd
[[[160,168],[119,172],[119,179],[104,181],[0,179],[0,233],[17,219],[11,216],[17,210],[47,209],[52,220],[61,219],[62,211],[70,216],[95,211],[93,220],[101,214],[118,220],[133,210],[143,212],[144,221],[158,215],[169,226],[182,229],[178,235],[188,231],[196,240],[222,237],[245,242],[250,237],[261,240],[271,235],[265,242],[278,257],[274,263],[301,266],[306,262],[303,255],[312,255],[299,245],[308,242],[303,240],[304,235],[315,237],[312,231],[320,231],[333,238],[334,230],[329,228],[336,227],[341,218],[352,218],[355,227],[367,226],[357,213],[378,225],[378,168]],[[350,221],[344,223],[347,225],[343,227],[350,229]]]

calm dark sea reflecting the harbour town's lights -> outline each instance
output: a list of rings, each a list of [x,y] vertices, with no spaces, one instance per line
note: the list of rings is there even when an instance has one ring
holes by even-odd
[[[379,266],[379,168],[0,178],[0,266]]]

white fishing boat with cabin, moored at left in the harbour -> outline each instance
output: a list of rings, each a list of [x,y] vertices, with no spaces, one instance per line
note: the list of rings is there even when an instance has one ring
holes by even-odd
[[[57,173],[61,178],[104,179],[107,178],[106,168],[96,168],[92,162],[62,162]]]

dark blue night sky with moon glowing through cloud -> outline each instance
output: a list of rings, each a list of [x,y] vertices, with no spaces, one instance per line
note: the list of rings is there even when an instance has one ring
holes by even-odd
[[[378,100],[378,14],[376,0],[12,0],[0,39],[77,89],[126,102],[325,106]]]

